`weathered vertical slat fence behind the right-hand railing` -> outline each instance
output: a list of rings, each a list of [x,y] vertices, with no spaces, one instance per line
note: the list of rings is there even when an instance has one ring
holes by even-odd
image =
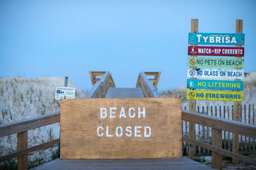
[[[185,111],[188,109],[187,106],[181,107]],[[233,105],[222,105],[222,106],[197,106],[197,113],[221,117],[224,119],[232,119],[234,109]],[[240,122],[244,122],[247,124],[255,125],[256,122],[256,113],[255,113],[255,104],[244,104],[240,105]],[[209,127],[204,127],[203,125],[196,125],[196,138],[199,141],[210,143],[209,135],[211,134],[211,129]],[[183,121],[183,133],[184,136],[188,137],[188,122]],[[239,135],[239,153],[247,154],[256,153],[255,150],[255,138],[247,137],[244,135]],[[222,145],[223,149],[227,149],[229,151],[232,150],[233,142],[232,142],[233,134],[231,132],[223,132],[222,141],[224,144]],[[184,143],[184,154],[188,155],[188,142]],[[205,148],[202,148],[198,146],[198,152],[195,152],[195,154],[201,155],[201,154],[209,154],[209,150],[206,150]]]

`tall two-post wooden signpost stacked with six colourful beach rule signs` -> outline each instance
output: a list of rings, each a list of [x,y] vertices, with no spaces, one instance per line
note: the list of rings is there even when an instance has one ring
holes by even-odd
[[[192,20],[192,23],[195,20]],[[192,25],[193,27],[194,25]],[[198,28],[198,26],[197,26]],[[189,111],[195,111],[196,100],[218,100],[218,101],[233,101],[234,113],[233,120],[240,119],[240,102],[243,101],[243,83],[244,78],[244,34],[242,33],[242,20],[236,20],[236,34],[230,33],[198,33],[198,30],[191,28],[189,33],[188,54],[190,57],[187,60],[187,96],[189,99]],[[212,47],[212,46],[197,46],[197,45],[236,45],[236,47]],[[196,45],[196,46],[195,46]],[[227,56],[220,57],[198,57],[199,56]],[[234,56],[235,58],[228,58]],[[198,67],[213,67],[213,68],[198,68]],[[217,69],[219,67],[229,69]],[[235,68],[235,69],[230,69]],[[199,78],[199,79],[198,79]],[[226,90],[226,91],[196,91],[196,89],[210,90]],[[195,128],[192,124],[189,125],[189,137],[194,139]],[[212,128],[212,145],[222,147],[222,131]],[[189,158],[194,159],[192,145],[189,144]],[[233,133],[233,152],[239,153],[239,135]],[[200,149],[199,149],[200,150]],[[199,151],[200,152],[200,151]],[[234,163],[238,161],[233,159]],[[212,167],[222,168],[221,154],[212,152]]]

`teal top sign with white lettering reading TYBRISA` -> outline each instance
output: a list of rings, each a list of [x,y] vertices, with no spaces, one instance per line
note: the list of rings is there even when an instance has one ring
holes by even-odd
[[[244,45],[244,34],[189,33],[189,44]]]

